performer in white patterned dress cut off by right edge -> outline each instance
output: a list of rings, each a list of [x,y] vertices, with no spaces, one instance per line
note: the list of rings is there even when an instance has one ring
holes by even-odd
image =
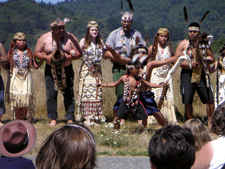
[[[225,101],[225,44],[219,51],[220,56],[217,62],[211,67],[207,64],[209,72],[214,73],[217,70],[216,90],[215,90],[215,109]]]

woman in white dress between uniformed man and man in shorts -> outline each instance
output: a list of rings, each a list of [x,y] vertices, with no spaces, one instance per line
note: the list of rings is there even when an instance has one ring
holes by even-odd
[[[167,44],[168,42],[168,44]],[[173,49],[170,43],[169,30],[167,28],[159,28],[157,36],[154,38],[154,44],[149,47],[150,60],[164,60],[173,56]],[[151,83],[165,82],[167,74],[172,66],[170,64],[154,68],[151,75]],[[174,95],[173,95],[173,81],[172,78],[168,82],[169,89],[166,93],[163,105],[160,109],[164,118],[168,123],[176,123],[176,115],[174,109]],[[162,88],[153,88],[152,92],[155,94],[156,102],[159,102]],[[153,116],[149,116],[148,123],[153,123]]]

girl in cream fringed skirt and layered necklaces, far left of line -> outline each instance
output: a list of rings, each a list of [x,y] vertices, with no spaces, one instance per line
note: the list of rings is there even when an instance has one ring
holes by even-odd
[[[22,32],[14,35],[8,52],[9,60],[9,101],[11,110],[15,111],[16,119],[26,120],[29,110],[29,120],[34,122],[33,84],[31,69],[32,66],[39,68],[33,59],[32,51],[27,47],[26,36]],[[14,118],[14,117],[13,117]]]

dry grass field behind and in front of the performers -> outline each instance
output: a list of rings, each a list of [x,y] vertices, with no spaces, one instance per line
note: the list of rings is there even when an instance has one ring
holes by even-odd
[[[81,60],[74,61],[73,67],[75,71],[74,77],[74,93],[76,95],[78,89],[78,73],[81,65]],[[112,82],[112,64],[109,60],[104,60],[102,63],[103,70],[103,82]],[[5,82],[7,81],[7,72],[2,69],[2,76]],[[39,147],[43,140],[55,129],[66,124],[65,120],[65,110],[63,105],[63,97],[59,93],[58,95],[58,114],[59,122],[56,127],[49,127],[48,123],[50,120],[47,118],[46,111],[46,97],[45,97],[45,80],[44,80],[44,69],[33,70],[33,84],[34,84],[34,94],[35,94],[35,116],[38,122],[34,124],[37,129],[37,141],[35,147],[28,155],[36,155]],[[176,116],[178,123],[182,125],[185,121],[184,116],[184,106],[181,103],[180,95],[180,70],[176,72],[173,78],[174,85],[174,102]],[[211,75],[211,82],[215,88],[215,75]],[[103,113],[107,118],[107,124],[101,124],[100,127],[91,127],[96,139],[97,152],[99,155],[120,155],[120,156],[147,156],[147,146],[148,142],[154,134],[154,131],[160,126],[158,124],[148,126],[148,130],[141,134],[132,134],[136,130],[137,122],[129,121],[125,126],[121,128],[120,131],[115,132],[110,128],[110,122],[113,120],[112,107],[115,102],[116,96],[114,94],[114,88],[103,88]],[[201,104],[197,95],[194,97],[194,114],[200,119],[205,119],[206,109],[205,106]],[[3,116],[3,122],[11,120],[12,113],[10,111],[10,105],[6,103],[6,114]]]

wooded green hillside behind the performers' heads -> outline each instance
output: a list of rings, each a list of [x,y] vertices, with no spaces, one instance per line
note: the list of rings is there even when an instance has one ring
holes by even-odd
[[[152,43],[159,27],[167,27],[173,45],[187,37],[183,7],[186,6],[190,22],[200,22],[206,11],[210,11],[202,23],[202,31],[212,34],[215,41],[213,50],[218,51],[225,38],[225,1],[224,0],[132,0],[134,7],[133,28],[143,36],[148,35]],[[22,31],[27,35],[28,45],[34,49],[38,37],[50,30],[49,23],[59,17],[77,17],[69,23],[66,30],[78,39],[85,35],[90,20],[98,21],[101,36],[106,40],[109,33],[119,27],[120,0],[65,0],[52,5],[34,0],[9,0],[0,3],[0,41],[8,50],[13,34]],[[124,11],[129,10],[124,0]],[[215,45],[216,44],[216,45]]]

